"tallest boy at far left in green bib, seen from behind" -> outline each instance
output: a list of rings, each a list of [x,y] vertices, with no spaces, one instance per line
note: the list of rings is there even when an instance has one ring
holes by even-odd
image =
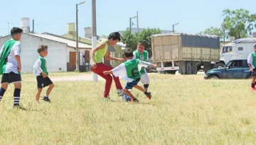
[[[0,101],[4,96],[9,83],[14,83],[14,108],[21,108],[19,105],[21,96],[21,28],[11,29],[11,40],[4,43],[0,50],[0,74],[1,88]]]

